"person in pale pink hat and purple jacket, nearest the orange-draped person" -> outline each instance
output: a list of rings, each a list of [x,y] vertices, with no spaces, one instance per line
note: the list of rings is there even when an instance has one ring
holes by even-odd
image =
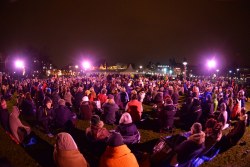
[[[122,135],[124,144],[135,144],[140,142],[141,135],[132,122],[132,118],[129,113],[122,114],[119,121],[119,125],[116,127],[116,132]]]

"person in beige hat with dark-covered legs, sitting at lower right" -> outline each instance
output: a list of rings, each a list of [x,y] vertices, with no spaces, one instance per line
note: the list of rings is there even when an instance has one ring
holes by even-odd
[[[205,133],[202,131],[200,123],[194,123],[190,131],[191,135],[174,148],[175,155],[172,157],[170,165],[177,164],[188,166],[190,160],[195,158],[204,149]]]

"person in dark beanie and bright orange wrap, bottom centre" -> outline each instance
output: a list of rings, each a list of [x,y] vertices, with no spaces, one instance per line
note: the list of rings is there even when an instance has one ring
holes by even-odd
[[[113,132],[108,138],[107,144],[99,167],[139,167],[134,154],[124,144],[120,133]]]

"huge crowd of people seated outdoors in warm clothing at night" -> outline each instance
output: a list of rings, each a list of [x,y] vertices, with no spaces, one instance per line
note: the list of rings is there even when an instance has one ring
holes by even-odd
[[[85,132],[90,145],[93,149],[100,143],[105,145],[100,166],[133,167],[141,162],[130,146],[143,137],[137,128],[149,117],[143,106],[152,106],[150,117],[159,133],[172,132],[176,127],[189,133],[168,138],[170,153],[159,160],[161,151],[157,150],[143,164],[187,166],[215,144],[227,150],[241,139],[249,124],[246,92],[244,85],[222,78],[189,81],[166,76],[91,74],[17,81],[4,75],[0,122],[17,144],[27,145],[32,128],[23,125],[19,114],[33,118],[35,126],[48,137],[56,137],[55,164],[73,167],[89,166],[70,135],[78,119],[88,120],[90,126]],[[16,104],[9,114],[6,101],[15,94]],[[112,125],[113,130],[107,130],[105,124]],[[227,128],[230,132],[222,135]]]

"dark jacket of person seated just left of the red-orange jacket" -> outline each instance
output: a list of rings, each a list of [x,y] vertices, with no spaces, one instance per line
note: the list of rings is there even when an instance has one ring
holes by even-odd
[[[119,110],[119,107],[116,103],[104,103],[104,122],[106,124],[114,124],[116,122],[116,112]]]

